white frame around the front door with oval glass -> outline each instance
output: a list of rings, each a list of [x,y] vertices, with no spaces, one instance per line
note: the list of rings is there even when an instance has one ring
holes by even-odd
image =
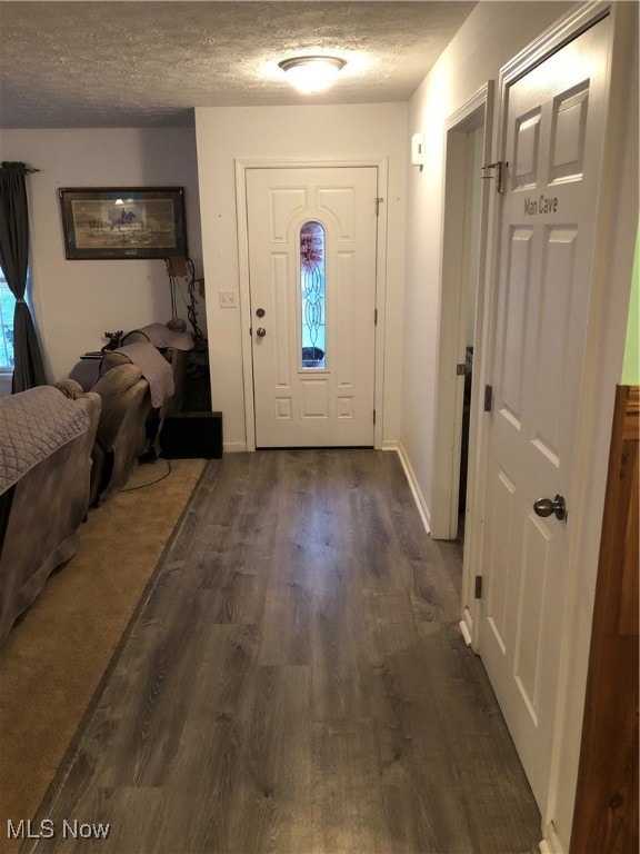
[[[238,271],[240,280],[240,327],[242,330],[242,378],[244,395],[244,430],[247,450],[256,450],[256,409],[253,404],[253,361],[251,337],[251,285],[249,281],[249,219],[247,210],[247,172],[250,169],[340,169],[373,167],[378,170],[378,192],[382,198],[379,206],[376,257],[376,346],[373,366],[376,423],[373,447],[382,447],[383,377],[384,377],[384,307],[387,294],[387,216],[388,216],[388,158],[366,159],[243,159],[236,161],[236,216],[238,225]]]

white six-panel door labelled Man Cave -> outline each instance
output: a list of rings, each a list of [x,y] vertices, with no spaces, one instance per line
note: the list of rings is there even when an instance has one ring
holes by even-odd
[[[609,19],[507,90],[479,652],[542,810],[577,466]],[[556,502],[556,497],[560,496]],[[566,502],[567,518],[542,516]],[[550,509],[550,507],[547,507]],[[558,513],[559,516],[562,514]]]

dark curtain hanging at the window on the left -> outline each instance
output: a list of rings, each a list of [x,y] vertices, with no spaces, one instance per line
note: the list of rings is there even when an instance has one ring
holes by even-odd
[[[29,208],[24,163],[3,162],[0,168],[0,266],[16,297],[13,312],[12,390],[47,385],[38,336],[24,301],[29,267]]]

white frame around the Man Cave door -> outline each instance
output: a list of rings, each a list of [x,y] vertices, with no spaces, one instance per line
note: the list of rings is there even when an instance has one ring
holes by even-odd
[[[594,2],[583,4],[562,16],[552,27],[508,62],[499,77],[498,143],[494,160],[504,160],[509,87],[551,53],[560,50],[581,32],[611,16],[611,41],[607,57],[608,103],[606,106],[604,142],[599,181],[596,239],[592,247],[592,279],[589,304],[587,342],[583,354],[582,381],[578,403],[573,476],[569,508],[568,578],[563,614],[558,704],[554,718],[553,752],[549,794],[541,804],[544,838],[540,851],[561,854],[562,840],[570,835],[572,805],[578,776],[580,733],[584,708],[591,615],[593,610],[598,553],[607,483],[608,448],[611,433],[616,385],[620,380],[627,319],[633,247],[636,242],[638,199],[638,136],[626,132],[621,121],[631,96],[628,80],[629,62],[633,58],[637,32],[634,4]],[[636,81],[637,85],[637,81]],[[637,99],[636,99],[637,100]],[[629,140],[628,137],[633,137]],[[633,150],[634,149],[634,150]],[[627,168],[624,168],[627,167]],[[498,296],[500,260],[501,205],[494,206],[488,255],[487,310],[491,332],[487,340],[479,384],[491,383],[494,348],[494,311]],[[630,221],[622,221],[620,210],[629,211]],[[633,217],[636,211],[636,217]],[[484,428],[488,431],[488,428]],[[479,466],[481,494],[486,495],[487,466]],[[482,537],[480,537],[482,539]],[[479,544],[480,549],[482,543]],[[481,560],[482,550],[479,553]],[[482,575],[479,565],[478,575]],[[472,643],[481,644],[480,619]],[[569,824],[569,826],[567,826]]]

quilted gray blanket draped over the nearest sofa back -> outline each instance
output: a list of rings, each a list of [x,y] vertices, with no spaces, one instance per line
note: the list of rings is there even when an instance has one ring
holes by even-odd
[[[0,495],[89,429],[89,414],[53,386],[0,398]]]

